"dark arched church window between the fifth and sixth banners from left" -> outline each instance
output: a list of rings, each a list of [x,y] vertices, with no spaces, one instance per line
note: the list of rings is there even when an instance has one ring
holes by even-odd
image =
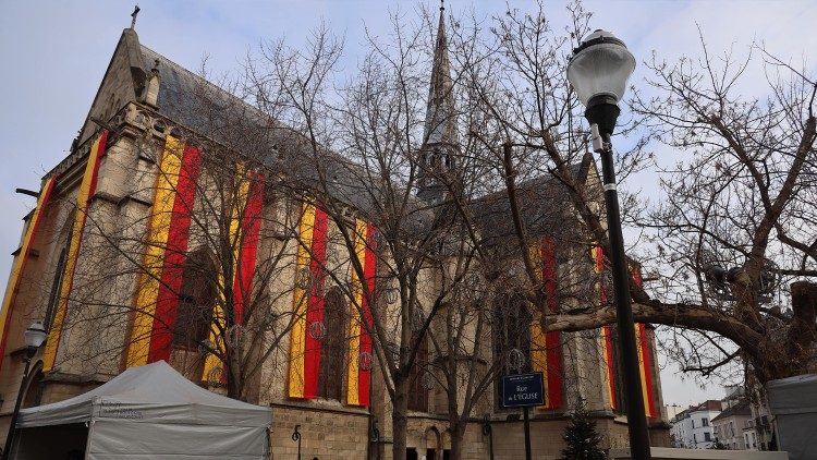
[[[318,397],[340,401],[343,396],[343,370],[346,358],[346,315],[343,294],[331,288],[325,296],[324,326],[320,341]]]

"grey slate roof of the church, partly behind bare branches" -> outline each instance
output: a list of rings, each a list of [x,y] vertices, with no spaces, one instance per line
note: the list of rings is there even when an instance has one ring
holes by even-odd
[[[364,215],[381,214],[379,207],[386,201],[387,191],[378,186],[378,178],[369,175],[361,165],[327,149],[319,148],[315,154],[301,133],[141,45],[132,29],[123,32],[117,52],[127,53],[127,62],[136,74],[149,75],[151,69],[158,70],[161,82],[157,112],[160,116],[257,159],[273,171],[281,171],[290,180],[288,183],[294,183],[305,193],[325,192]],[[136,98],[134,95],[134,100]],[[315,158],[316,155],[319,158]],[[586,157],[571,166],[580,181],[586,179],[590,162],[592,158]],[[435,221],[434,206],[413,194],[410,199],[411,216],[405,230],[423,232]],[[570,225],[575,215],[568,211],[571,206],[566,187],[551,175],[521,183],[519,201],[529,234],[575,231]],[[471,208],[486,243],[499,244],[514,234],[505,192],[479,197],[472,202]]]

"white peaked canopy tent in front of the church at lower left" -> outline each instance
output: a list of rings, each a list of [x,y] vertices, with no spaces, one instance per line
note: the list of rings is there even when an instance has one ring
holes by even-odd
[[[271,419],[269,408],[207,391],[160,361],[22,410],[14,458],[266,459]]]

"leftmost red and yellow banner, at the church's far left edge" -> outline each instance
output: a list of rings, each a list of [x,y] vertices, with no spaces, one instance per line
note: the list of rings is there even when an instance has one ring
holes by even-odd
[[[9,285],[5,288],[5,296],[3,298],[3,310],[0,312],[0,367],[2,367],[3,356],[5,355],[5,341],[9,334],[9,325],[11,324],[14,301],[20,291],[20,280],[25,270],[32,245],[37,237],[37,230],[42,221],[42,211],[51,199],[51,192],[53,192],[56,182],[57,175],[51,175],[42,184],[42,190],[40,190],[39,197],[37,198],[37,207],[34,208],[32,217],[28,219],[23,235],[23,244],[20,246],[20,253],[14,259],[14,266],[11,269],[11,277],[9,277]]]

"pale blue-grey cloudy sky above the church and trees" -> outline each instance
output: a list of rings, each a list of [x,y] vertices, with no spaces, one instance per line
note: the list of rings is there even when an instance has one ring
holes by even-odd
[[[139,1],[136,31],[143,45],[191,70],[204,56],[216,72],[235,69],[247,49],[264,38],[285,36],[300,43],[321,19],[346,37],[344,64],[354,65],[363,53],[364,27],[375,34],[388,29],[390,10],[412,13],[420,2],[385,0],[301,1]],[[437,8],[438,1],[426,3]],[[448,0],[456,14],[474,9],[478,16],[502,14],[503,1]],[[558,26],[566,14],[563,2],[548,2]],[[511,1],[512,8],[533,8],[531,1]],[[595,12],[592,28],[613,32],[642,62],[655,50],[672,60],[699,53],[698,27],[712,52],[734,47],[745,53],[753,40],[765,41],[783,60],[802,63],[817,49],[810,33],[817,19],[813,1],[587,1]],[[0,168],[0,253],[17,247],[21,218],[35,201],[14,194],[15,187],[38,190],[42,174],[57,165],[85,120],[113,48],[131,22],[133,3],[125,1],[0,0],[0,138],[4,160]],[[809,62],[814,70],[814,56]],[[639,84],[644,66],[632,83]],[[764,75],[753,69],[745,90],[763,94]],[[662,152],[663,153],[663,152]],[[666,152],[667,157],[679,153]],[[638,179],[650,192],[655,181]],[[0,258],[0,279],[8,277],[12,257]],[[662,360],[663,361],[663,360]],[[662,363],[666,364],[666,363]],[[668,404],[690,404],[720,398],[719,385],[699,388],[682,380],[678,370],[661,372]]]

